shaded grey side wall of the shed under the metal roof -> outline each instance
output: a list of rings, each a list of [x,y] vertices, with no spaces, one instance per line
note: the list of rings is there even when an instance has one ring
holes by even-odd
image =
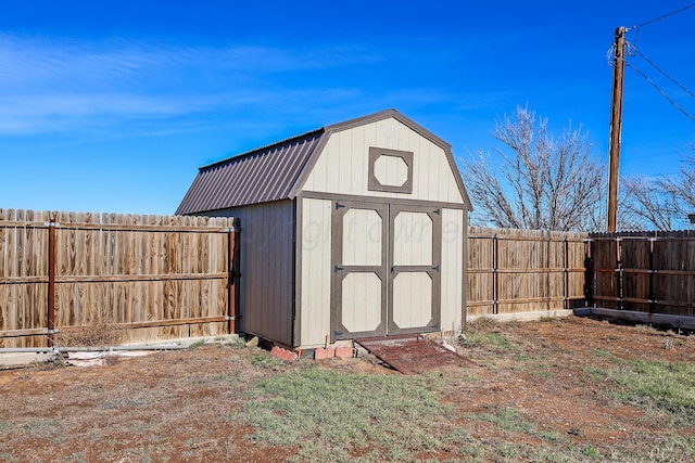
[[[241,220],[241,331],[292,343],[294,204],[231,209]]]

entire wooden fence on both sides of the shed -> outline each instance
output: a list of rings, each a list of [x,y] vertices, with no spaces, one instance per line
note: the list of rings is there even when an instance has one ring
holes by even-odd
[[[231,218],[0,209],[0,347],[51,345],[109,317],[126,343],[233,332]],[[586,304],[695,317],[695,232],[471,227],[467,314]]]

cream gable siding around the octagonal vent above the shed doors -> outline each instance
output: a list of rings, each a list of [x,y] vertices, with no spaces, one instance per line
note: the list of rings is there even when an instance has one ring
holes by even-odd
[[[368,190],[369,146],[414,153],[413,193]],[[332,133],[302,190],[464,203],[444,150],[394,118]]]

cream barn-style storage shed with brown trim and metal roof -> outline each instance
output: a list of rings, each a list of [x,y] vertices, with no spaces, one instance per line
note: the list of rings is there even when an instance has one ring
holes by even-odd
[[[201,167],[176,214],[241,222],[241,332],[293,348],[457,332],[470,201],[451,145],[387,110]]]

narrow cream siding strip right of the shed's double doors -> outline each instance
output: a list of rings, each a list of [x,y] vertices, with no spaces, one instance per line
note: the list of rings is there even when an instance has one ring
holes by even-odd
[[[462,209],[442,209],[442,331],[457,333],[463,324],[464,243],[466,219]]]

